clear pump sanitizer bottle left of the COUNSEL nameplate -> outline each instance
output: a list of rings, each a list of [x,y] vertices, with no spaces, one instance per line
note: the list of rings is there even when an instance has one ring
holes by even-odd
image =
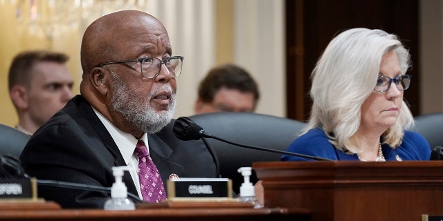
[[[127,187],[122,182],[123,171],[127,171],[127,166],[113,166],[112,174],[116,182],[111,187],[111,199],[105,202],[105,210],[134,210],[136,206],[132,200],[127,198]]]

